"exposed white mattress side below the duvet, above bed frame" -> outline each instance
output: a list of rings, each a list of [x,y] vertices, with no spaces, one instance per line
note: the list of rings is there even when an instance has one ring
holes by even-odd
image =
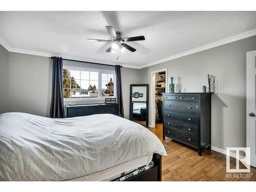
[[[111,181],[119,178],[125,174],[133,172],[135,169],[150,164],[153,155],[148,155],[125,163],[121,163],[111,168],[107,168],[97,173],[93,173],[87,176],[70,179],[67,181]]]

